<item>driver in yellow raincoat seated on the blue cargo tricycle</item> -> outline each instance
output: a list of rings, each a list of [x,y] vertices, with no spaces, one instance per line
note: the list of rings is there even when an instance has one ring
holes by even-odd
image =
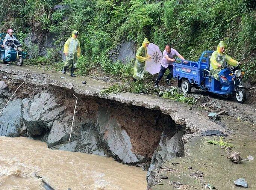
[[[211,56],[210,74],[213,75],[216,80],[220,80],[219,72],[221,71],[221,66],[226,65],[226,63],[232,66],[238,66],[239,64],[238,61],[224,53],[226,48],[227,45],[223,41],[220,41],[217,51],[214,51]]]

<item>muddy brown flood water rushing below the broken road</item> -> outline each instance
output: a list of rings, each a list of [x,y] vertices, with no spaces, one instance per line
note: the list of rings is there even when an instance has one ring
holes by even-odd
[[[52,150],[25,137],[0,137],[0,189],[44,189],[42,179],[59,190],[145,190],[139,167],[80,152]]]

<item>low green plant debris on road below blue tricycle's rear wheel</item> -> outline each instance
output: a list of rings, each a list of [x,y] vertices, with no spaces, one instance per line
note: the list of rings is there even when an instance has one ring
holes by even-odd
[[[169,91],[163,92],[162,98],[176,100],[176,101],[183,102],[186,104],[191,104],[191,105],[196,103],[196,100],[194,97],[188,94],[184,95],[183,93],[180,93],[179,89],[173,86]]]

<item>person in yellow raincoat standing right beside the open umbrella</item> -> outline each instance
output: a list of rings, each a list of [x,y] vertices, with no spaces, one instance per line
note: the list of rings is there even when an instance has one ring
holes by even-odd
[[[147,47],[149,41],[147,38],[142,42],[142,46],[138,48],[136,53],[136,61],[134,65],[133,71],[133,81],[140,80],[143,78],[145,73],[145,61],[150,59],[151,57],[147,54]]]

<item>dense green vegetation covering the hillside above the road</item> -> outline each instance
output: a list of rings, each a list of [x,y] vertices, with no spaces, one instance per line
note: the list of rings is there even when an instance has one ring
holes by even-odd
[[[66,7],[54,10],[58,4]],[[202,51],[215,50],[224,40],[234,59],[247,54],[245,77],[256,82],[255,0],[12,0],[2,1],[0,9],[5,10],[0,12],[0,32],[12,28],[21,41],[33,32],[38,42],[54,33],[57,52],[73,29],[78,30],[81,75],[97,66],[131,77],[133,63],[123,65],[108,57],[109,50],[126,41],[139,47],[147,37],[161,50],[170,43],[186,59],[198,60]],[[61,61],[47,59],[49,65]]]

